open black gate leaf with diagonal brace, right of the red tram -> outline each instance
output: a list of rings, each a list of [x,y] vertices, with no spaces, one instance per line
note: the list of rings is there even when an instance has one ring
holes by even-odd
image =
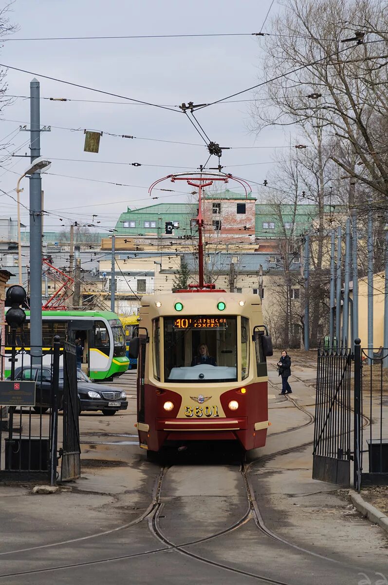
[[[350,349],[318,349],[313,479],[350,484],[352,459]]]

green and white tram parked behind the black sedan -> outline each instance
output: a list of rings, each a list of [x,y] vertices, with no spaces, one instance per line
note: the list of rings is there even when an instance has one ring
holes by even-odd
[[[43,363],[50,363],[50,349],[55,335],[61,340],[79,339],[84,347],[82,370],[92,380],[106,380],[121,376],[127,371],[129,359],[126,356],[124,329],[119,317],[110,311],[43,311],[42,338]],[[11,353],[11,330],[6,326],[5,352]],[[18,349],[22,347],[23,365],[29,363],[30,350],[30,312],[26,311],[23,330],[16,333]],[[18,353],[16,367],[21,366],[22,355]],[[20,362],[20,363],[19,363]],[[6,360],[8,369],[8,360]],[[9,372],[6,371],[6,376]]]

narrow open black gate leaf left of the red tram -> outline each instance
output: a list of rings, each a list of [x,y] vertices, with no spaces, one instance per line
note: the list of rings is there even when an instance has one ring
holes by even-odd
[[[79,403],[77,392],[77,356],[75,345],[64,343],[63,358],[63,446],[61,481],[77,479],[81,475],[81,449],[79,448]]]

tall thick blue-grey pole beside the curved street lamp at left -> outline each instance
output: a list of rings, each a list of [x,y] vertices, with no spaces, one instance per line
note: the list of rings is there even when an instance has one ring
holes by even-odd
[[[30,160],[40,157],[40,84],[30,82]],[[41,178],[30,176],[30,343],[31,363],[39,364],[42,346],[41,318]]]

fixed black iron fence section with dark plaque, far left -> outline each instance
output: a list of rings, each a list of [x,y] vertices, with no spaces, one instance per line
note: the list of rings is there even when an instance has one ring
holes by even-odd
[[[8,380],[12,389],[0,395],[0,482],[50,481],[54,485],[60,343],[40,348],[41,356],[32,358],[32,348],[23,347],[20,338],[5,341],[0,343],[0,380]],[[25,382],[32,388],[27,396]]]

